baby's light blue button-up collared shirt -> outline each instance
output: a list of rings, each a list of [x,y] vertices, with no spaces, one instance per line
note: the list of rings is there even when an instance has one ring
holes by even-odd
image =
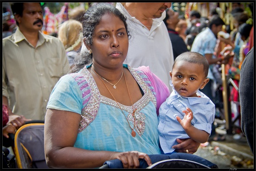
[[[204,93],[197,91],[197,95],[201,97],[182,97],[173,88],[171,95],[160,106],[157,130],[164,153],[175,150],[172,146],[178,144],[177,138],[190,138],[176,119],[176,116],[184,118],[185,114],[182,111],[186,110],[186,107],[193,112],[192,125],[211,134],[215,105]]]

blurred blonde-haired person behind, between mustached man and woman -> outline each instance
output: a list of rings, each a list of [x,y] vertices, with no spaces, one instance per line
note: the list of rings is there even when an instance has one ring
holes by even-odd
[[[82,31],[82,24],[76,20],[67,20],[60,25],[58,38],[64,44],[70,66],[73,65],[75,57],[80,52],[83,40]]]

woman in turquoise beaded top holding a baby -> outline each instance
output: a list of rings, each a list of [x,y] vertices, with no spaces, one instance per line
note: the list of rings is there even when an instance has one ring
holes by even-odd
[[[160,154],[156,111],[170,92],[148,68],[123,64],[130,36],[125,20],[105,3],[85,13],[87,57],[76,60],[75,73],[60,79],[47,106],[44,148],[49,167],[95,168],[120,159],[124,168],[138,168],[139,159],[151,165],[148,155]],[[92,64],[84,67],[88,61]],[[200,145],[178,141],[178,152],[194,153]]]

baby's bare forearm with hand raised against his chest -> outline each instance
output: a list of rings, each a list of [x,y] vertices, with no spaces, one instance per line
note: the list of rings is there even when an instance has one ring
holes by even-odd
[[[187,111],[182,111],[183,113],[185,113],[184,118],[180,119],[179,116],[176,116],[176,119],[178,120],[178,122],[180,123],[180,125],[183,127],[184,131],[188,134],[190,138],[199,143],[207,142],[209,134],[206,131],[197,129],[191,124],[191,121],[193,119],[193,112],[188,107],[186,109]]]

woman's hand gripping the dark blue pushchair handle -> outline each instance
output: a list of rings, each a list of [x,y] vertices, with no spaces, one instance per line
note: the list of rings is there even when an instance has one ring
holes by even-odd
[[[144,159],[148,163],[148,166],[152,165],[151,159],[145,153],[139,151],[127,151],[120,152],[113,155],[113,159],[120,159],[123,163],[124,168],[139,168],[139,159]]]

